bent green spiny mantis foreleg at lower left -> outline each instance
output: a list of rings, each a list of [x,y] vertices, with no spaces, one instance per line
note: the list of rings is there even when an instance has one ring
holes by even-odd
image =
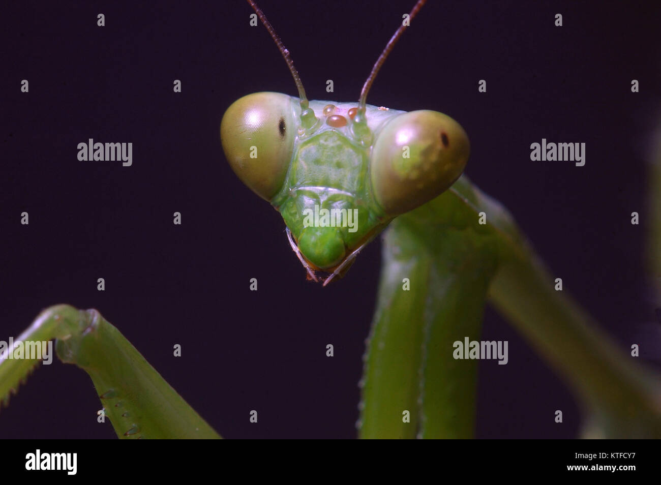
[[[61,361],[87,371],[120,438],[218,438],[219,435],[96,310],[57,305],[17,338],[51,340]],[[0,395],[15,390],[36,361],[0,361]]]

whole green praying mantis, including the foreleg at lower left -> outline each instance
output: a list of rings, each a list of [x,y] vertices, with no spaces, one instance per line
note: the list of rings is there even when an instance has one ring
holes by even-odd
[[[422,3],[416,4],[410,19],[415,17],[416,9]],[[293,69],[293,64],[290,66]],[[298,165],[292,164],[292,157],[298,156],[292,153],[293,144],[299,143],[296,149],[300,153],[303,140],[307,140],[307,147],[315,143],[326,147],[344,144],[342,146],[349,147],[346,151],[351,150],[351,153],[356,153],[353,149],[356,145],[364,147],[365,151],[366,147],[370,147],[372,156],[380,151],[390,151],[390,155],[393,155],[393,151],[397,151],[397,155],[404,153],[403,145],[407,143],[395,145],[394,149],[376,144],[395,135],[381,130],[388,127],[395,130],[399,123],[395,120],[406,121],[408,118],[396,118],[406,116],[403,112],[367,106],[368,89],[369,85],[364,89],[365,95],[361,96],[359,103],[311,101],[305,108],[305,96],[300,92],[299,98],[285,95],[268,95],[265,98],[265,94],[257,95],[264,98],[264,103],[274,105],[276,110],[284,109],[284,113],[289,113],[274,117],[269,115],[264,122],[267,128],[273,122],[270,128],[274,130],[268,134],[272,139],[267,140],[266,146],[258,146],[259,143],[254,140],[250,140],[246,146],[241,145],[245,141],[239,139],[241,133],[232,133],[230,130],[223,137],[227,158],[235,170],[251,160],[249,152],[253,146],[257,149],[255,161],[264,159],[260,159],[260,156],[265,157],[264,152],[270,149],[268,143],[272,143],[276,151],[282,150],[289,154],[289,157],[273,161],[268,167],[273,171],[258,174],[261,175],[262,184],[255,184],[250,176],[242,178],[248,180],[249,186],[261,196],[266,194],[270,200],[277,199],[274,205],[285,211],[282,215],[288,227],[288,239],[311,280],[325,278],[326,284],[344,276],[357,251],[385,229],[383,274],[362,381],[360,435],[471,435],[475,427],[474,416],[467,410],[475,407],[475,361],[453,359],[451,345],[448,344],[461,340],[463,336],[471,340],[479,337],[487,293],[490,293],[496,306],[541,348],[543,354],[568,375],[576,392],[586,401],[586,406],[594,411],[591,413],[593,421],[590,424],[594,435],[658,435],[657,378],[627,363],[621,352],[596,330],[596,325],[590,322],[589,317],[553,290],[553,280],[548,278],[514,225],[512,217],[500,204],[482,194],[465,176],[457,180],[468,157],[467,135],[451,118],[424,114],[438,118],[423,119],[424,126],[438,122],[443,127],[434,130],[438,134],[434,151],[446,156],[441,165],[447,167],[447,173],[433,188],[420,189],[414,186],[408,190],[407,195],[414,199],[413,205],[407,200],[400,200],[407,192],[406,186],[401,187],[401,190],[393,190],[389,181],[391,174],[387,170],[385,173],[377,172],[375,168],[366,170],[361,167],[352,172],[351,181],[358,186],[352,190],[324,185],[337,182],[341,175],[332,180],[325,178],[313,180],[314,183],[305,182],[306,185],[299,184],[297,187],[292,185],[292,167],[300,168],[303,161],[299,158]],[[252,102],[255,99],[250,98]],[[329,105],[333,108],[329,108],[326,114],[325,108]],[[233,116],[233,110],[236,116],[245,108],[245,104],[233,106],[225,116]],[[352,117],[351,110],[354,108],[356,112]],[[311,109],[313,113],[303,114],[306,109]],[[338,118],[332,118],[329,123],[329,118],[333,116]],[[344,118],[346,124],[332,126],[342,123],[340,117]],[[281,128],[281,118],[284,119],[284,129]],[[222,131],[221,124],[221,135]],[[299,139],[291,142],[292,147],[287,145],[283,149],[282,131],[286,137],[298,135]],[[326,133],[324,138],[315,139],[315,136],[323,133]],[[348,139],[350,133],[356,138],[345,142],[344,139]],[[227,143],[235,145],[228,150]],[[446,145],[451,148],[450,153],[443,152]],[[458,147],[459,153],[455,152],[455,147]],[[415,161],[415,147],[409,148],[413,152],[410,158],[393,159],[401,163]],[[425,149],[422,147],[418,151]],[[333,150],[337,149],[329,148],[322,152],[322,156],[336,153]],[[248,158],[236,161],[231,157],[242,151]],[[431,158],[438,161],[439,157]],[[323,161],[328,162],[325,159]],[[346,167],[337,168],[346,170]],[[422,167],[408,168],[422,170]],[[432,173],[436,168],[425,167],[426,170],[432,170]],[[318,176],[303,170],[298,170],[298,174],[303,179]],[[369,180],[366,180],[368,174]],[[288,185],[280,184],[287,177]],[[417,179],[413,177],[411,180]],[[312,202],[319,201],[319,205],[323,206],[324,202],[330,201],[340,204],[338,209],[353,210],[354,205],[357,206],[358,231],[349,233],[348,227],[346,231],[343,227],[340,232],[344,231],[342,236],[347,239],[341,237],[340,242],[336,230],[331,232],[331,236],[327,236],[326,231],[306,232],[308,228],[303,227],[303,213],[299,212],[302,207],[297,200],[289,205],[280,201],[284,200],[284,194],[290,189],[303,187],[307,188],[307,192],[299,190],[305,192],[302,197]],[[318,190],[319,187],[325,191]],[[276,189],[279,189],[277,193]],[[368,200],[359,201],[354,198],[348,207],[342,206],[347,200],[346,196],[355,196],[359,189]],[[369,198],[370,192],[375,197]],[[418,198],[420,192],[428,194]],[[430,196],[434,193],[438,196]],[[336,198],[333,199],[333,196]],[[481,213],[486,215],[486,224],[479,223]],[[307,234],[316,237],[306,237]],[[329,269],[331,271],[325,271]],[[405,280],[408,280],[410,289],[405,289]],[[55,325],[58,322],[65,323]],[[56,307],[46,311],[32,328],[38,332],[46,330],[50,325],[57,326],[57,330],[46,332],[44,336],[30,333],[25,338],[58,338],[58,354],[65,361],[76,361],[81,357],[98,359],[98,355],[103,355],[100,351],[108,352],[109,357],[101,361],[106,368],[100,370],[107,370],[110,375],[102,372],[93,375],[98,394],[103,396],[104,408],[113,410],[118,402],[122,402],[124,408],[134,406],[130,411],[108,414],[118,436],[215,437],[215,432],[204,420],[189,410],[185,402],[179,400],[178,394],[154,375],[155,371],[146,362],[135,357],[132,346],[122,340],[98,313],[81,313],[71,307]],[[100,348],[94,348],[93,352],[77,349],[77,346],[85,345],[85,339],[97,334],[106,339],[100,341]],[[110,342],[114,342],[114,347]],[[132,361],[132,365],[142,369],[147,376],[143,379],[138,376],[123,385],[129,389],[153,389],[141,393],[141,396],[153,399],[147,402],[127,402],[126,398],[122,400],[120,390],[114,389],[114,382],[119,379],[117,375],[112,375],[112,363],[120,359],[118,355],[124,354],[128,361]],[[27,364],[26,361],[3,360],[0,364],[0,383],[3,385],[0,394],[5,395],[16,386],[17,381],[24,377]],[[85,363],[80,361],[79,365],[85,367]],[[120,374],[126,375],[126,369]],[[609,384],[600,383],[596,379],[597,375],[609,376]],[[110,405],[107,400],[110,400]],[[173,401],[174,404],[169,404]],[[410,414],[408,422],[401,419],[403,411]],[[124,413],[128,413],[128,416],[123,416]],[[134,416],[141,416],[142,421],[134,422]],[[147,420],[148,416],[153,418]],[[397,416],[397,419],[393,416]],[[164,423],[167,426],[159,426]]]

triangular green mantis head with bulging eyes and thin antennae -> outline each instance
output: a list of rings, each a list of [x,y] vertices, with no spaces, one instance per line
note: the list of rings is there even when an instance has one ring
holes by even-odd
[[[282,214],[308,278],[330,273],[326,284],[342,276],[393,217],[449,188],[466,165],[469,141],[440,112],[366,104],[366,87],[358,103],[308,101],[288,51],[281,51],[299,98],[243,96],[223,116],[221,143],[237,176]],[[379,61],[369,84],[378,67]]]

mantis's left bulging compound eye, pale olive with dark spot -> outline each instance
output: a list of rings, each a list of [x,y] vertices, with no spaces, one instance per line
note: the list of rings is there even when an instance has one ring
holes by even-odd
[[[220,122],[229,165],[266,200],[280,191],[292,161],[296,105],[286,94],[248,94],[233,102]]]

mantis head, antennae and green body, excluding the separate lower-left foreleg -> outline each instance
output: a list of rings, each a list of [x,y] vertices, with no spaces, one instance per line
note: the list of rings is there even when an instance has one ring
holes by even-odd
[[[309,279],[329,274],[327,284],[342,276],[389,226],[361,381],[360,436],[473,436],[477,361],[457,360],[451,349],[479,340],[487,297],[574,386],[588,416],[586,435],[661,435],[658,377],[631,365],[588,315],[553,291],[512,216],[461,176],[470,151],[461,126],[439,112],[366,104],[407,27],[399,26],[377,59],[358,103],[309,102],[288,50],[248,2],[299,96],[249,94],[229,106],[220,126],[229,164],[280,211]],[[330,221],[317,217],[323,210]],[[352,210],[356,226],[338,227],[337,216]],[[603,375],[607,385],[598,383]]]

